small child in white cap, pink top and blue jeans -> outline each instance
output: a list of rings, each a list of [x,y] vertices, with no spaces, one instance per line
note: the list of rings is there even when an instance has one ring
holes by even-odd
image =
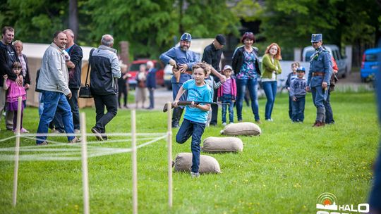
[[[217,98],[222,103],[229,103],[229,123],[234,122],[233,102],[236,101],[237,86],[236,80],[231,78],[233,69],[230,65],[225,65],[222,70],[223,75],[226,77],[226,81],[219,87],[217,92]],[[222,125],[226,125],[226,106],[222,105]]]

